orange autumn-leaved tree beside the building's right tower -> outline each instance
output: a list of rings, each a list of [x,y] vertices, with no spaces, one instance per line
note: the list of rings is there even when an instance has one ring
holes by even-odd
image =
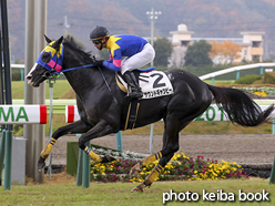
[[[232,41],[211,42],[210,56],[214,61],[217,60],[220,64],[233,63],[235,59],[241,58],[238,52],[242,51],[242,47]]]

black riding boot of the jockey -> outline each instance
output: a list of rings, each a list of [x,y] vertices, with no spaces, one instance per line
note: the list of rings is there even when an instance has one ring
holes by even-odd
[[[126,71],[123,76],[125,78],[128,85],[131,90],[131,92],[129,92],[129,96],[131,99],[141,99],[143,96],[143,93],[141,91],[141,87],[139,86],[139,83],[134,76],[134,74],[130,71]]]

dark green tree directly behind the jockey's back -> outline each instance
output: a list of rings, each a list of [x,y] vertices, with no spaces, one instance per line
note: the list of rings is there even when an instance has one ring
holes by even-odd
[[[172,43],[169,41],[167,38],[157,38],[154,41],[154,49],[155,49],[155,65],[163,65],[167,66],[169,58],[172,54]]]

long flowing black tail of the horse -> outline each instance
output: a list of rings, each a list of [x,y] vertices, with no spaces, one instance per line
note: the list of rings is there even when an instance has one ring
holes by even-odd
[[[274,104],[268,106],[265,111],[243,91],[230,87],[216,87],[208,85],[210,91],[214,95],[216,105],[227,113],[227,117],[232,123],[242,126],[257,126],[271,117],[274,111]]]

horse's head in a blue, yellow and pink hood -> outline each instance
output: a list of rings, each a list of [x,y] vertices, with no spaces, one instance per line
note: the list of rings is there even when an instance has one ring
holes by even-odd
[[[54,72],[62,70],[63,62],[63,37],[57,41],[51,41],[45,37],[45,41],[49,43],[40,53],[35,64],[26,76],[29,84],[37,87],[44,80],[50,78]]]

